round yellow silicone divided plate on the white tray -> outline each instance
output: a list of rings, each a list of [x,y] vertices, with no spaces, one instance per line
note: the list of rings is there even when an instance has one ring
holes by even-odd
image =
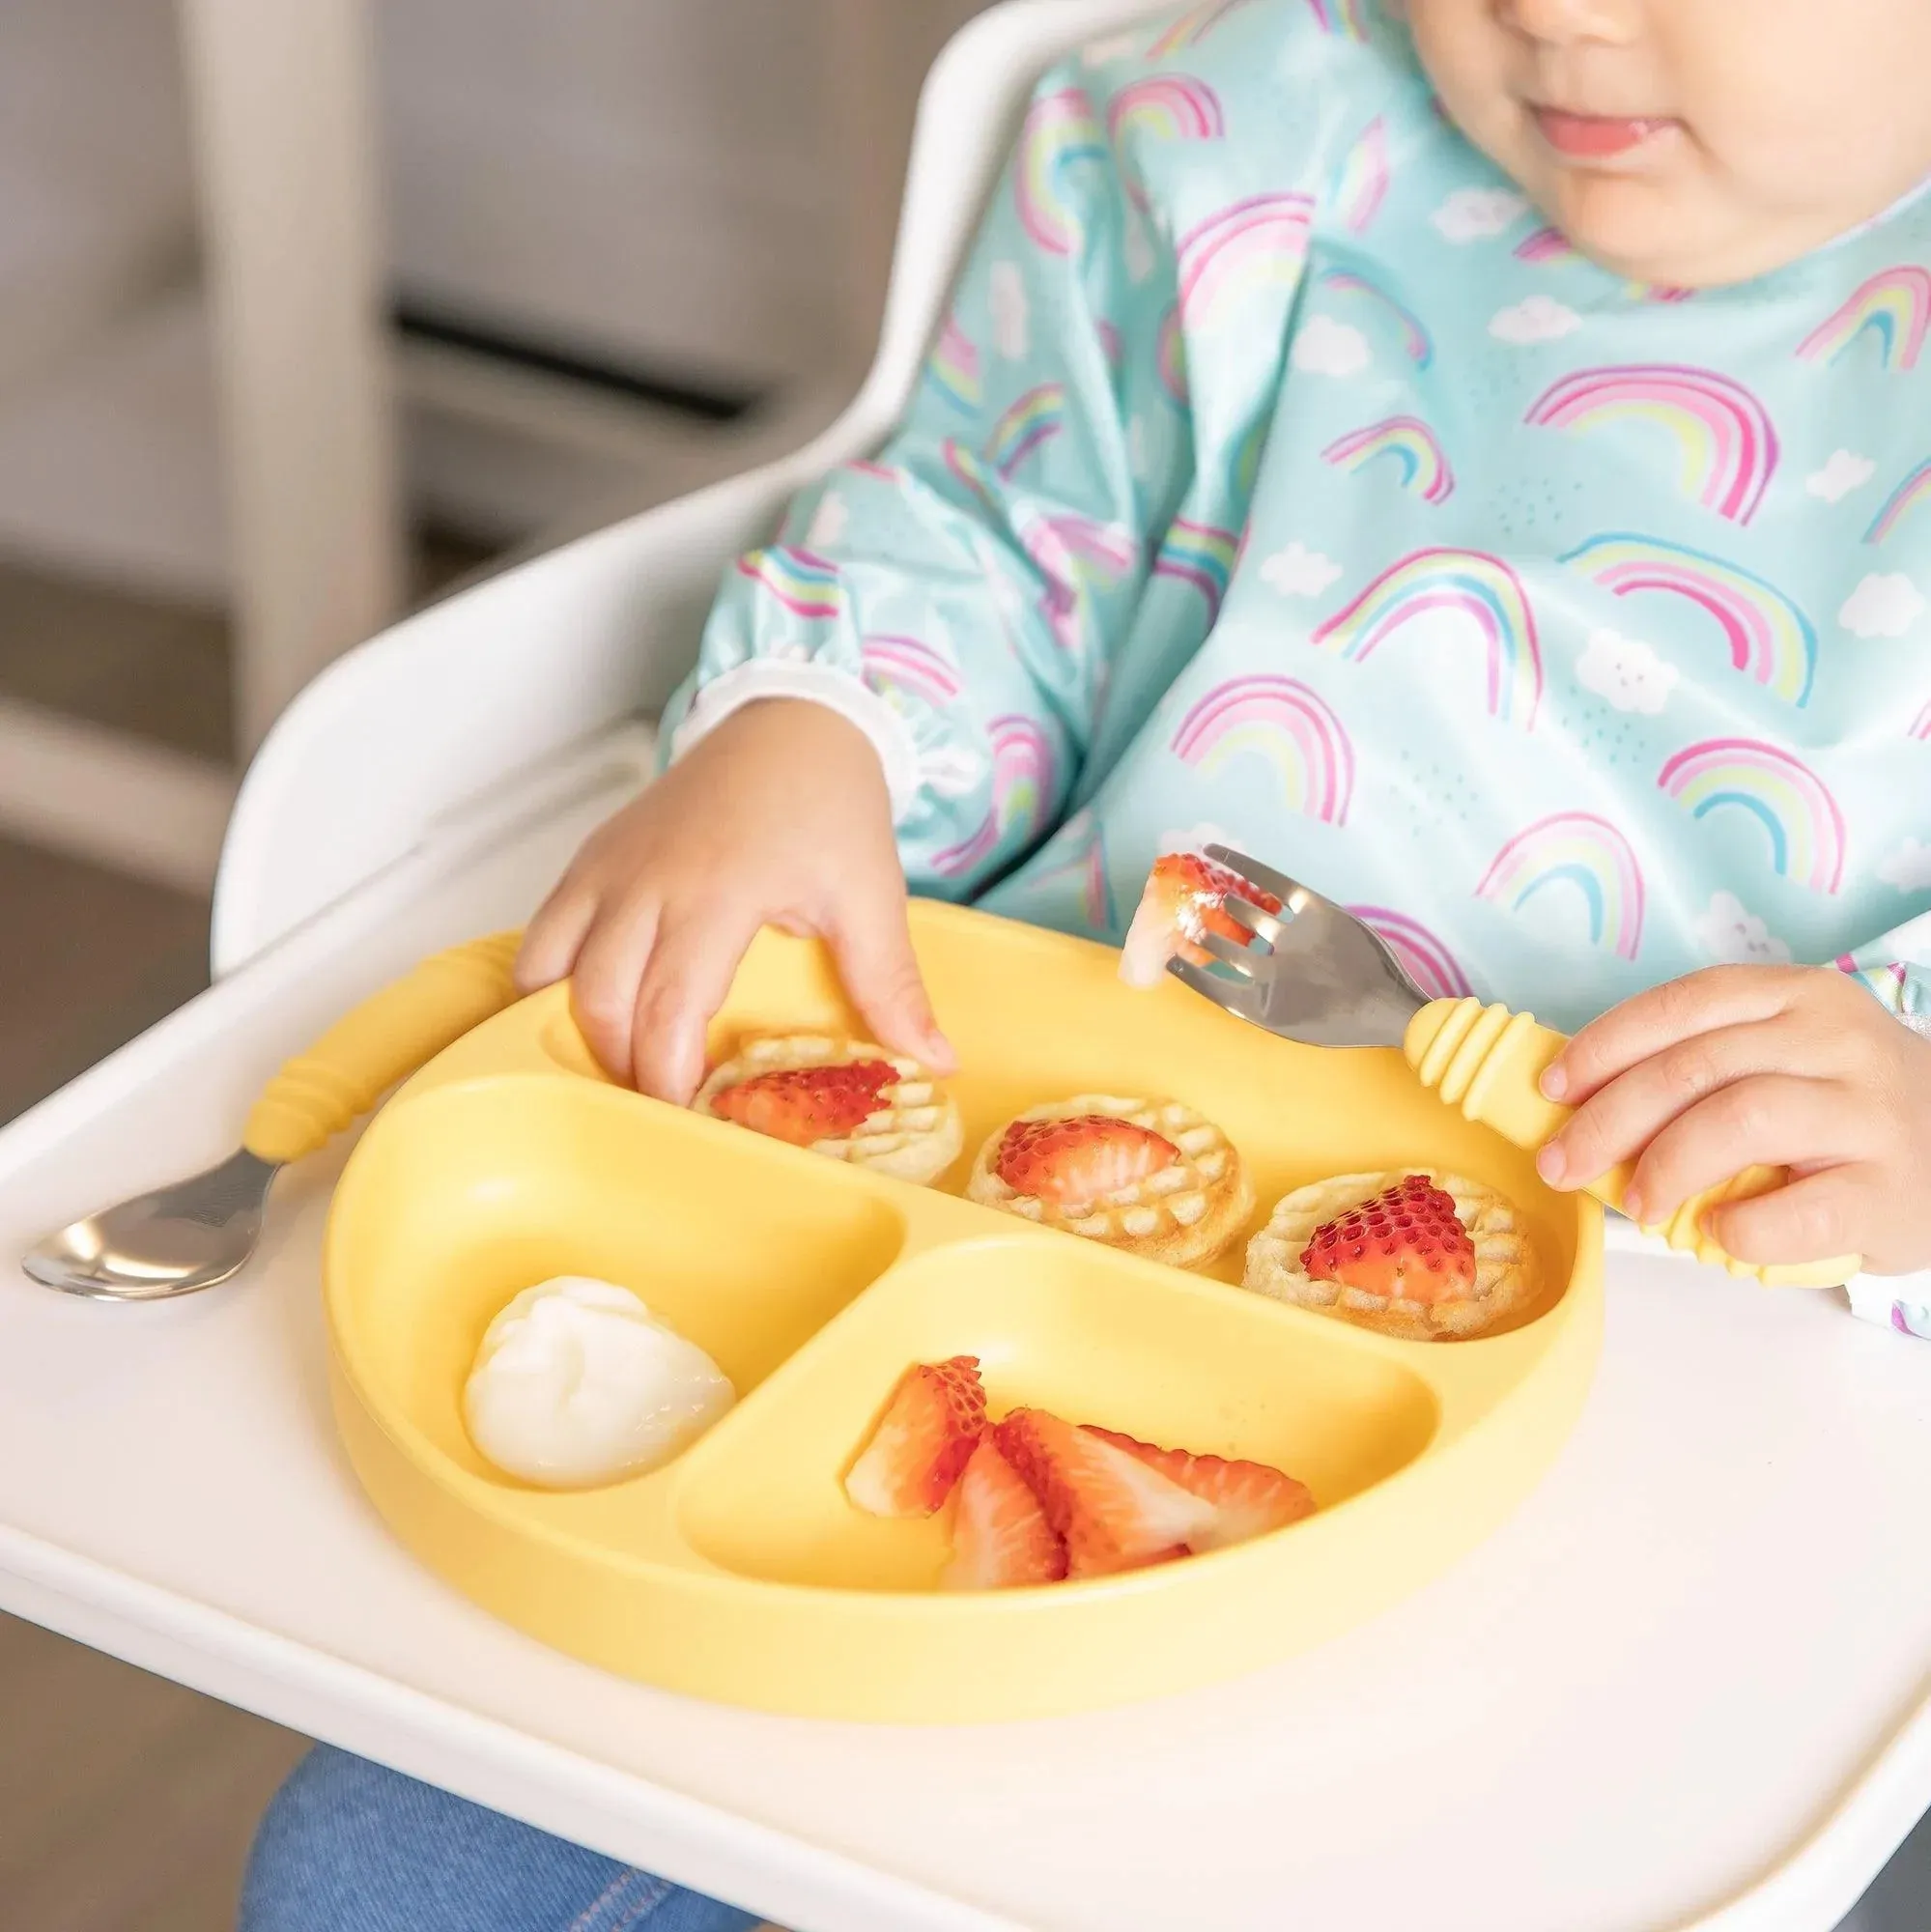
[[[1508,1333],[1415,1345],[1135,1262],[604,1082],[552,987],[477,1028],[375,1121],[336,1192],[336,1414],[377,1507],[433,1569],[545,1642],[697,1696],[971,1721],[1230,1677],[1386,1607],[1537,1482],[1587,1389],[1601,1213],[1425,1094],[1398,1053],[1271,1039],[1116,954],[948,906],[913,939],[960,1051],[966,1153],[1023,1107],[1166,1094],[1253,1169],[1257,1227],[1323,1175],[1452,1167],[1522,1208],[1549,1293]],[[852,1028],[821,951],[765,935],[713,1049]],[[525,1488],[462,1424],[483,1329],[548,1275],[624,1283],[738,1387],[676,1463]],[[935,1588],[946,1519],[884,1522],[842,1476],[911,1362],[977,1354],[1031,1403],[1273,1463],[1319,1515],[1215,1555],[1045,1590]]]

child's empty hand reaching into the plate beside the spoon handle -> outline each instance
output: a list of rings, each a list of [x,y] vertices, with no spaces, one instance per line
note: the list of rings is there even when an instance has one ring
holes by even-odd
[[[825,705],[747,705],[599,827],[531,922],[516,978],[535,991],[572,974],[597,1059],[684,1105],[761,925],[823,937],[879,1043],[952,1070],[906,931],[884,773]]]

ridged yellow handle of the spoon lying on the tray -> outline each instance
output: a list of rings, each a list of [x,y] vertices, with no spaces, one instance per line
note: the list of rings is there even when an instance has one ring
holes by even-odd
[[[384,1088],[516,999],[510,968],[521,933],[471,939],[371,993],[292,1059],[247,1117],[241,1144],[263,1161],[299,1161],[367,1113]]]

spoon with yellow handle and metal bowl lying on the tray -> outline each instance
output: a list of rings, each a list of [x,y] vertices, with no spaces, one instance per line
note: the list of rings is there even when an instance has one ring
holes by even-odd
[[[21,1267],[48,1289],[104,1302],[158,1302],[212,1289],[247,1265],[274,1177],[330,1142],[398,1080],[516,999],[521,933],[423,960],[290,1061],[249,1113],[241,1150],[191,1180],[83,1215]]]

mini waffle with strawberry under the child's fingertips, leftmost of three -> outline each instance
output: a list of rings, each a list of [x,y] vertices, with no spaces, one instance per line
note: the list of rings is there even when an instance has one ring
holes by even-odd
[[[691,1105],[919,1186],[937,1180],[964,1144],[958,1103],[917,1061],[826,1034],[742,1041]]]

